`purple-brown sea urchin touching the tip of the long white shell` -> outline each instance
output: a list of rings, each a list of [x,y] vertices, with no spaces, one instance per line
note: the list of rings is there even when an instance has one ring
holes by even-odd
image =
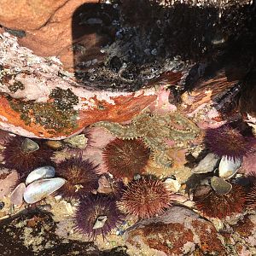
[[[79,198],[80,195],[97,189],[97,166],[89,160],[83,160],[81,155],[62,160],[56,166],[55,172],[58,177],[67,180],[67,183],[58,190],[65,198]]]

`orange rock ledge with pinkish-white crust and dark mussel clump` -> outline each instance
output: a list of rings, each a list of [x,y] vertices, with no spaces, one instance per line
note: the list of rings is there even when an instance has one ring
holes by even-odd
[[[1,35],[0,46],[0,92],[6,93],[0,96],[0,128],[21,136],[61,139],[103,119],[126,121],[157,98],[154,89],[87,90],[72,78],[60,77],[60,63],[33,55],[7,33]],[[10,87],[14,84],[17,90]]]

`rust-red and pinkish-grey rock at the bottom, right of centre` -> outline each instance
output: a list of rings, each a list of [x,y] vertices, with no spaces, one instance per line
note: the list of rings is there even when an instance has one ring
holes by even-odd
[[[125,231],[125,241],[153,255],[184,255],[196,247],[201,253],[227,255],[213,224],[183,207],[139,221]]]

